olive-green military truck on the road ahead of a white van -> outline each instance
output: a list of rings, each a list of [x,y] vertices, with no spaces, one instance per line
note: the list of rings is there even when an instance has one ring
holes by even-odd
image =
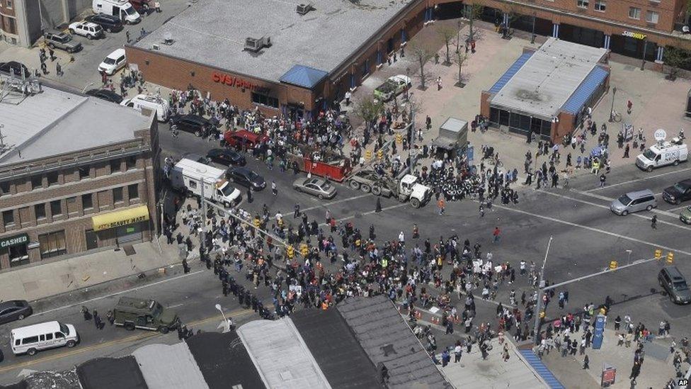
[[[121,297],[113,308],[113,317],[115,325],[130,331],[141,328],[167,334],[180,325],[175,311],[164,308],[156,300],[142,298]]]

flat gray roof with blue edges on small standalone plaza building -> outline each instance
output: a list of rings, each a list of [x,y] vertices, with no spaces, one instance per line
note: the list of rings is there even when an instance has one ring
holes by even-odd
[[[491,104],[552,120],[605,55],[603,48],[549,38],[493,96]]]

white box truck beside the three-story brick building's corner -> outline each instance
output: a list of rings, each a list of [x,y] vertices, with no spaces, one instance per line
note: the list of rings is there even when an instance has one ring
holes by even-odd
[[[226,172],[209,165],[183,158],[169,171],[171,186],[178,191],[202,196],[215,203],[231,207],[240,201],[240,191],[225,179]]]

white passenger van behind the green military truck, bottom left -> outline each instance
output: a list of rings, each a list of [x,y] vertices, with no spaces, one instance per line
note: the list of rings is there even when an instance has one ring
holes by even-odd
[[[39,350],[54,347],[74,347],[79,342],[79,335],[74,325],[45,322],[13,329],[10,342],[14,354],[34,355]]]

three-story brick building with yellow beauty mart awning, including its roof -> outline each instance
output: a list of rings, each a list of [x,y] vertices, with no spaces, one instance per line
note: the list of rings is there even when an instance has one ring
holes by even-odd
[[[43,87],[0,100],[0,269],[152,239],[154,113]]]

